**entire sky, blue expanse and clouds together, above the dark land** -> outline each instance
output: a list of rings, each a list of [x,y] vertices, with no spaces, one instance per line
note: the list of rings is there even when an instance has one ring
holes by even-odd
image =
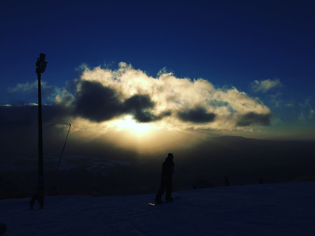
[[[35,62],[45,53],[43,103],[72,107],[58,114],[88,122],[82,132],[130,121],[207,136],[315,138],[313,1],[2,1],[0,8],[0,105],[37,104]],[[126,83],[111,84],[106,73]],[[89,105],[97,91],[119,94],[111,100],[118,106]],[[15,114],[1,109],[5,119]]]

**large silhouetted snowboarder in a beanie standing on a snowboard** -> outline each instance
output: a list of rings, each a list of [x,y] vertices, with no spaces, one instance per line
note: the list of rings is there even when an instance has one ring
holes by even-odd
[[[174,172],[173,158],[174,158],[173,154],[169,153],[162,164],[161,187],[159,188],[157,194],[155,195],[156,203],[163,203],[162,195],[164,194],[165,188],[166,188],[165,200],[173,201],[172,198],[173,192],[172,177]]]

